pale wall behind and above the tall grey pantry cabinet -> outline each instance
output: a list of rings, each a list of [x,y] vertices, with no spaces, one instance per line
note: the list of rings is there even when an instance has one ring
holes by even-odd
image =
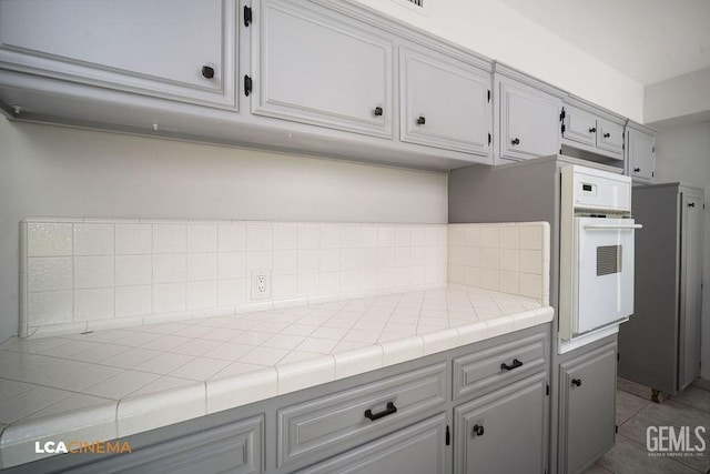
[[[710,379],[710,121],[661,130],[656,151],[656,182],[682,181],[706,190],[701,344],[702,376]]]

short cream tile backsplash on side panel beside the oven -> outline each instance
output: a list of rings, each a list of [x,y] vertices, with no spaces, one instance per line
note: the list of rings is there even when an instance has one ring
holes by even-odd
[[[549,304],[547,222],[448,225],[448,282]]]

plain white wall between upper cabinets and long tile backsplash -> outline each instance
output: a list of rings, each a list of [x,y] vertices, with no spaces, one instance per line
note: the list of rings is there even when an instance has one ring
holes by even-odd
[[[27,216],[447,222],[447,177],[0,118],[0,342]]]

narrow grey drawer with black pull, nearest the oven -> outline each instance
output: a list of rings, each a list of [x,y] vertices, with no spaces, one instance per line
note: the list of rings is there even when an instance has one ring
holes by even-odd
[[[545,371],[546,347],[546,334],[535,334],[454,359],[454,399],[483,395]]]

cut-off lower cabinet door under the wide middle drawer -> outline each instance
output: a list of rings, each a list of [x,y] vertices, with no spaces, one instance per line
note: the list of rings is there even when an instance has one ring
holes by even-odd
[[[445,432],[446,416],[442,413],[300,472],[444,474]]]

